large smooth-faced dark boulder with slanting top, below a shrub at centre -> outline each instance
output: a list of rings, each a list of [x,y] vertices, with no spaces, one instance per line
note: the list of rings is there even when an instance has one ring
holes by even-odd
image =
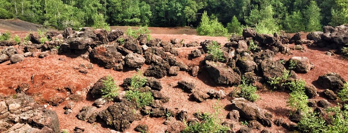
[[[210,77],[217,84],[226,84],[226,85],[240,84],[240,81],[241,81],[240,75],[234,72],[231,67],[228,67],[223,63],[206,61],[206,69]]]

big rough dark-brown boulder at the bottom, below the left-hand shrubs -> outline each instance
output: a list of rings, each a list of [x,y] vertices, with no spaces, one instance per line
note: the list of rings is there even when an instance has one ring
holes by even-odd
[[[122,100],[119,103],[110,105],[107,109],[102,110],[98,116],[107,125],[112,126],[116,131],[124,132],[130,127],[130,124],[137,120],[137,112],[133,112],[135,105],[129,101]]]

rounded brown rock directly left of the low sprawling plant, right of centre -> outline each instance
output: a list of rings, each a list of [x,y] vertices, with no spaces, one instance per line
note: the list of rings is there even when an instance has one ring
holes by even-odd
[[[263,76],[266,79],[270,79],[272,77],[281,77],[285,69],[285,67],[279,61],[274,62],[270,59],[263,60],[260,66]]]

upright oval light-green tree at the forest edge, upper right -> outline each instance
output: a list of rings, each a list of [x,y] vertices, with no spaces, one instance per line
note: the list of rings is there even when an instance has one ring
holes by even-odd
[[[322,25],[320,21],[322,16],[320,14],[320,8],[317,5],[317,2],[312,0],[309,5],[306,5],[306,9],[304,11],[304,17],[306,22],[306,31],[320,31]]]

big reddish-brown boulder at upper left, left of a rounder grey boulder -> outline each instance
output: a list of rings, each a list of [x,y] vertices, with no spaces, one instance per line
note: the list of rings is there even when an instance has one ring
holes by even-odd
[[[91,59],[97,62],[101,67],[113,68],[116,63],[121,61],[122,54],[117,52],[115,46],[99,46],[95,47],[91,52]]]

